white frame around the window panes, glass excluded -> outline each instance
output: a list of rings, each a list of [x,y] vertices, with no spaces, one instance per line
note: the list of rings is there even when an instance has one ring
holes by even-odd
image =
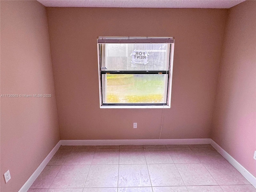
[[[169,63],[169,76],[168,76],[168,92],[167,104],[162,105],[104,105],[102,101],[102,71],[101,71],[101,58],[100,58],[100,44],[106,43],[168,43],[170,44],[170,63]],[[172,70],[174,59],[174,38],[173,37],[98,37],[98,77],[99,77],[99,93],[100,93],[100,108],[170,108],[171,107],[171,94],[172,94]]]

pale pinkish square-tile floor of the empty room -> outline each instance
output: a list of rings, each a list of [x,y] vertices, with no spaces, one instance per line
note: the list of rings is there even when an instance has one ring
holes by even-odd
[[[210,144],[60,146],[28,192],[256,192]]]

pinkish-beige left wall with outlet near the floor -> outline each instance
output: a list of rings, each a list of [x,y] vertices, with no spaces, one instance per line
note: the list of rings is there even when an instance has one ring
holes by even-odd
[[[46,8],[1,0],[1,192],[17,192],[59,141]],[[10,170],[11,180],[3,174]]]

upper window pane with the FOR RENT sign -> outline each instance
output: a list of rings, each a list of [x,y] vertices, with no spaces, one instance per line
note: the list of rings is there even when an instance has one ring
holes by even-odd
[[[169,70],[168,44],[104,44],[102,67],[109,71]]]

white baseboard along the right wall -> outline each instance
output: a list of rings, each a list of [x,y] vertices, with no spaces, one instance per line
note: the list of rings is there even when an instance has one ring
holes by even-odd
[[[222,149],[214,140],[211,139],[210,144],[226,159],[234,168],[236,168],[254,187],[256,187],[256,178],[238,163],[230,154]]]

